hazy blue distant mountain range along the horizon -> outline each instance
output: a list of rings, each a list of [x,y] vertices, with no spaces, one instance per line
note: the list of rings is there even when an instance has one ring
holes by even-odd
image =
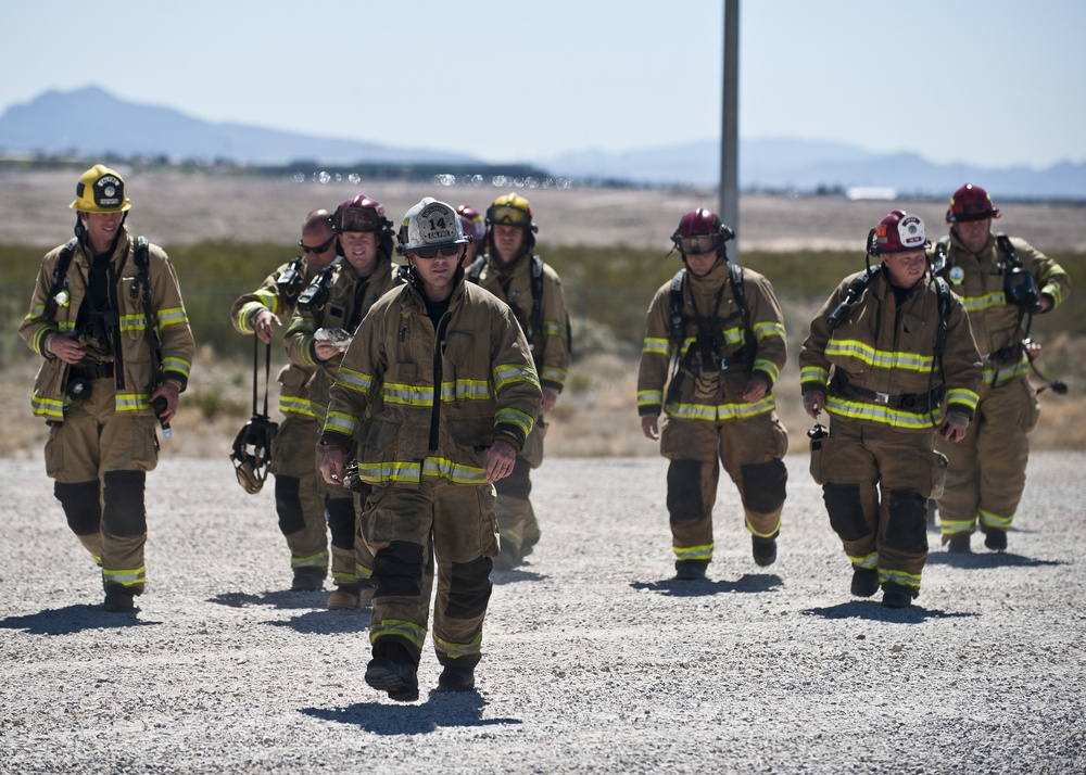
[[[78,132],[73,131],[75,127]],[[321,165],[487,165],[464,154],[214,124],[168,107],[125,102],[94,87],[48,91],[9,107],[0,116],[0,151],[114,153],[264,166],[300,161]],[[532,164],[551,175],[574,179],[716,187],[720,149],[716,141],[705,141],[626,153],[583,151],[533,160]],[[1047,169],[992,169],[934,164],[911,153],[871,153],[843,143],[773,138],[742,140],[740,144],[743,190],[811,192],[862,187],[942,198],[965,181],[999,191],[1005,199],[1086,200],[1086,163],[1061,163]]]

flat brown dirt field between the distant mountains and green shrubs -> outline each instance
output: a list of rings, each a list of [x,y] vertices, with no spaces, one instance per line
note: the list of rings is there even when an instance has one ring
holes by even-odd
[[[0,173],[0,244],[52,247],[67,240],[75,216],[65,208],[77,178],[71,173]],[[506,192],[490,186],[442,189],[386,181],[298,183],[211,174],[132,174],[126,182],[132,200],[132,227],[165,245],[203,240],[293,244],[306,213],[316,207],[332,209],[359,191],[380,200],[394,221],[425,195],[483,211]],[[717,209],[715,191],[573,188],[523,189],[520,193],[535,208],[539,239],[556,244],[659,245],[666,252],[670,249],[668,237],[683,213],[694,207]],[[1086,252],[1086,206],[1000,205],[997,192],[992,193],[1005,213],[997,221],[1001,230],[1046,251]],[[933,233],[943,233],[946,202],[744,195],[736,227],[738,247],[862,250],[868,230],[893,207],[918,213]]]

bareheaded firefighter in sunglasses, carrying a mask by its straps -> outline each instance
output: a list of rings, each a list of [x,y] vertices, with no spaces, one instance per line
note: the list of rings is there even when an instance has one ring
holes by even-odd
[[[265,278],[258,289],[238,298],[230,320],[239,333],[272,342],[282,320],[290,322],[298,296],[316,274],[338,259],[331,213],[315,209],[305,216],[298,241],[302,254]],[[313,369],[287,364],[279,370],[279,410],[283,421],[272,442],[270,472],[275,475],[275,504],[279,530],[290,549],[293,581],[290,588],[316,590],[328,575],[328,529],[320,497],[313,450],[317,423],[305,383]]]

